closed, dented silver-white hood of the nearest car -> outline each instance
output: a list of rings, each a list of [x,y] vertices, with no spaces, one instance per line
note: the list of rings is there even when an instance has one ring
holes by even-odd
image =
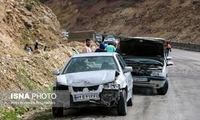
[[[87,71],[57,76],[57,83],[73,87],[88,87],[115,80],[115,70]]]

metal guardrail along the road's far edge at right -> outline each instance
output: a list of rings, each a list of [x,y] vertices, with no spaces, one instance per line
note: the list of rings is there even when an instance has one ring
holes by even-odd
[[[177,42],[171,42],[171,44],[172,44],[172,48],[200,52],[200,45],[189,44],[189,43],[177,43]]]

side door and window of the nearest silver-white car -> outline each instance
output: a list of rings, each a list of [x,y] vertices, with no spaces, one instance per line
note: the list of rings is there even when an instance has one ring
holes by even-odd
[[[124,70],[125,67],[127,66],[125,61],[123,60],[123,58],[120,55],[117,55],[117,59],[120,63],[120,66],[122,67],[122,70]],[[132,97],[133,78],[132,78],[131,72],[124,72],[124,76],[126,78],[126,83],[127,83],[127,87],[128,87],[127,98],[129,99]]]

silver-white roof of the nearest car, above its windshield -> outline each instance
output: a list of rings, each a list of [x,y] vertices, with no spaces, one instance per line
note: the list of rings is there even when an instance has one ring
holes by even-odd
[[[118,53],[115,52],[92,52],[92,53],[81,53],[72,56],[75,57],[94,57],[94,56],[115,56]]]

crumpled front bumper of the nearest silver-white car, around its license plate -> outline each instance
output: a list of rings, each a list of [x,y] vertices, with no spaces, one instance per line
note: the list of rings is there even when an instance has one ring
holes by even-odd
[[[93,91],[94,92],[94,91]],[[120,90],[119,89],[103,89],[99,87],[95,92],[99,92],[100,99],[90,99],[86,101],[74,101],[74,92],[71,88],[65,91],[56,91],[57,99],[53,100],[56,107],[64,108],[83,108],[83,107],[114,107],[118,104]],[[82,92],[81,94],[84,94]],[[87,94],[87,93],[85,93]]]

